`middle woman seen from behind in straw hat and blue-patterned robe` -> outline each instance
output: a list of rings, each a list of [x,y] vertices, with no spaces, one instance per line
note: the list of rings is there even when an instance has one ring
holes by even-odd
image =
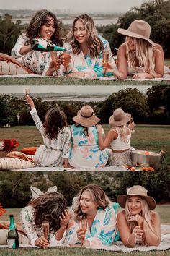
[[[99,150],[97,123],[93,108],[86,105],[73,117],[76,124],[71,126],[72,146],[69,163],[75,168],[104,167],[109,150]],[[102,129],[102,137],[104,129]]]

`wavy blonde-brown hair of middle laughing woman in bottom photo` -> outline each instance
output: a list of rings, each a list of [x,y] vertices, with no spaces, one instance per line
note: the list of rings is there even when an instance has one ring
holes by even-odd
[[[81,191],[79,192],[79,195],[77,195],[77,197],[74,197],[73,199],[73,218],[75,218],[76,221],[81,221],[81,219],[86,218],[86,213],[82,213],[79,203],[81,200],[81,195],[84,191],[90,193],[91,200],[97,203],[98,208],[103,208],[103,210],[105,210],[107,206],[111,204],[111,200],[109,200],[109,197],[107,197],[107,195],[105,194],[103,189],[99,187],[99,185],[89,184],[86,187],[83,187],[83,189],[81,189]]]

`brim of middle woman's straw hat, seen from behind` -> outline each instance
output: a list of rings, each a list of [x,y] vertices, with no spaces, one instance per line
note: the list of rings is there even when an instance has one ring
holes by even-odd
[[[97,116],[90,116],[89,118],[86,118],[81,115],[77,115],[73,117],[73,121],[80,124],[82,127],[92,127],[93,125],[97,124],[100,119]]]

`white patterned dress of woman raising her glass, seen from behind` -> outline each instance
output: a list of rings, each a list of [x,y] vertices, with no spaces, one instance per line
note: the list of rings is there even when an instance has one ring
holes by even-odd
[[[34,161],[38,166],[62,166],[63,158],[69,158],[71,130],[69,127],[63,127],[58,133],[56,139],[49,139],[45,135],[45,129],[42,121],[37,115],[37,111],[33,108],[30,111],[37,129],[40,131],[44,145],[37,148],[34,155]]]

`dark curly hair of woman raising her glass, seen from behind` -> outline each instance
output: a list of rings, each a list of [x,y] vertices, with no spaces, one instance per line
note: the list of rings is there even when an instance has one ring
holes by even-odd
[[[61,108],[54,107],[45,115],[45,121],[43,127],[45,128],[45,135],[51,140],[56,139],[58,132],[67,126],[66,114],[61,110]]]

